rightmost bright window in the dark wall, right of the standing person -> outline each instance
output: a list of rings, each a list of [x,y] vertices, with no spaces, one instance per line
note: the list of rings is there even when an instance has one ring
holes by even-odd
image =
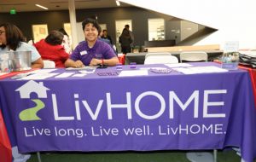
[[[148,40],[165,40],[164,19],[148,19]]]

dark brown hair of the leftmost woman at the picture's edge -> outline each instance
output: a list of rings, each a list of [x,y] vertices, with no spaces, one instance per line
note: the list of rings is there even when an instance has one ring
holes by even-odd
[[[2,44],[0,47],[4,49],[8,47],[9,49],[16,50],[20,47],[20,42],[24,42],[24,37],[19,27],[15,26],[11,23],[1,24],[0,27],[4,27],[5,36],[6,36],[6,44]]]

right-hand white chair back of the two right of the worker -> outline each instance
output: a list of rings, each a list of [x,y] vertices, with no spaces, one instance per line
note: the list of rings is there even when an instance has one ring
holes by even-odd
[[[182,52],[179,55],[180,62],[207,61],[208,55],[204,51]]]

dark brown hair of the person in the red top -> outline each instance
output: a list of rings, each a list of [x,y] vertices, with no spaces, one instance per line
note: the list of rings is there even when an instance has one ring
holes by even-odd
[[[44,39],[46,43],[51,45],[60,45],[63,41],[64,35],[59,31],[51,31],[49,35]]]

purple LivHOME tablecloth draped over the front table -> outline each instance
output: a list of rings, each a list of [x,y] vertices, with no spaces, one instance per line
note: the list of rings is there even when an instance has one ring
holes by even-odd
[[[12,145],[21,153],[237,147],[246,161],[256,157],[256,113],[246,71],[148,71],[137,77],[114,72],[108,67],[84,78],[0,81]]]

